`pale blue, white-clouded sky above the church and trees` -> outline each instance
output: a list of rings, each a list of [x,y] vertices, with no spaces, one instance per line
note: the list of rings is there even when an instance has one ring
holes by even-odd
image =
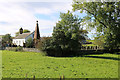
[[[68,2],[0,2],[0,35],[15,36],[22,27],[31,32],[39,23],[40,35],[51,36],[53,27],[60,20],[60,12],[72,11],[72,0]],[[73,12],[79,17],[85,13]],[[92,33],[88,36],[92,38]]]

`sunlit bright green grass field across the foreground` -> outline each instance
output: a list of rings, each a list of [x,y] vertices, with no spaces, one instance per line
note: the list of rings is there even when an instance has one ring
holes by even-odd
[[[96,58],[96,57],[97,58]],[[47,57],[34,52],[2,52],[3,78],[118,78],[118,55]]]

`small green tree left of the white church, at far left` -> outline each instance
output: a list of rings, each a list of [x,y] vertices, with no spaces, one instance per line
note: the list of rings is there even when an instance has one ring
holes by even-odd
[[[6,34],[4,36],[2,36],[2,46],[6,47],[7,44],[11,44],[12,43],[12,37],[10,34]]]

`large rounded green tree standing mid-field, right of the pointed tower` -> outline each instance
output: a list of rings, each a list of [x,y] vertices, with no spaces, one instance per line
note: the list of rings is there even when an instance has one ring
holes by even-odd
[[[60,18],[53,29],[52,39],[46,41],[45,46],[57,52],[56,56],[65,56],[80,50],[81,41],[85,40],[87,31],[82,29],[81,19],[70,11],[61,13]]]

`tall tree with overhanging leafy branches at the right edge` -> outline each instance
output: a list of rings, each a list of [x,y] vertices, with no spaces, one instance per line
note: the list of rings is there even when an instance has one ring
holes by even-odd
[[[83,21],[104,35],[105,47],[120,46],[120,2],[79,2],[74,0],[73,11],[86,12]],[[102,33],[101,33],[102,32]]]

